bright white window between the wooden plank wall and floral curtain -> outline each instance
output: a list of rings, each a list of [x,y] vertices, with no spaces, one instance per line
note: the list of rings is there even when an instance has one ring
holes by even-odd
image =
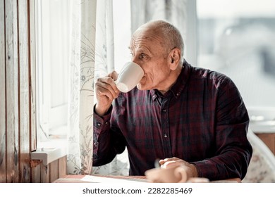
[[[66,136],[69,2],[35,1],[39,141]]]

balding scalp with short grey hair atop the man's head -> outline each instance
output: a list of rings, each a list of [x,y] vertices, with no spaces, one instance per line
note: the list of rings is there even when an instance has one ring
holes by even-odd
[[[140,26],[135,33],[140,31],[150,31],[157,36],[162,37],[162,39],[164,39],[164,47],[167,48],[167,52],[171,49],[178,48],[181,50],[181,56],[183,57],[183,37],[181,36],[181,32],[179,32],[178,29],[171,23],[164,20],[153,20]]]

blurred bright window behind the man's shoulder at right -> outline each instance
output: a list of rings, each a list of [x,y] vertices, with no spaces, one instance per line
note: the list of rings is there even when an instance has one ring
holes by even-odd
[[[272,0],[197,0],[197,65],[236,83],[251,120],[275,120]]]

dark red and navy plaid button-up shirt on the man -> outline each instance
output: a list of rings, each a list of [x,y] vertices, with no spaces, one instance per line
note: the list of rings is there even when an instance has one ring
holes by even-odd
[[[130,175],[144,175],[157,158],[177,157],[195,164],[199,177],[243,179],[252,155],[248,124],[236,85],[185,61],[166,94],[135,88],[104,117],[94,113],[93,165],[110,163],[127,146]]]

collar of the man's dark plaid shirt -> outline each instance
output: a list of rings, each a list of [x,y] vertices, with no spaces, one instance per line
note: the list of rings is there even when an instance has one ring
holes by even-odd
[[[178,79],[176,80],[176,83],[173,84],[173,87],[171,87],[171,89],[167,91],[166,94],[164,94],[164,96],[173,95],[175,98],[178,98],[178,96],[181,95],[181,92],[183,91],[183,89],[185,88],[185,85],[188,82],[190,72],[191,72],[191,65],[184,60],[183,69],[181,70],[181,74],[178,75]],[[150,93],[152,95],[153,101],[160,94],[157,89],[150,90]]]

